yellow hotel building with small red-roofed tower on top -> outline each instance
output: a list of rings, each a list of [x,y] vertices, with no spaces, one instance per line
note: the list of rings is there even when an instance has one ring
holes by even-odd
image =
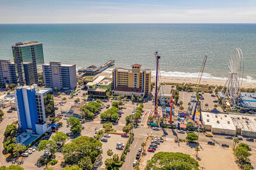
[[[115,68],[112,71],[112,95],[127,97],[148,96],[151,87],[151,70],[141,70],[140,64],[131,65],[131,69]]]

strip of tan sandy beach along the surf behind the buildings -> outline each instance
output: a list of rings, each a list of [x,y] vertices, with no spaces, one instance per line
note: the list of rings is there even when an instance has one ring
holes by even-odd
[[[98,76],[106,76],[110,77],[112,74],[111,73],[100,73]],[[156,81],[156,76],[152,76],[151,81],[154,82]],[[162,76],[162,83],[191,83],[191,84],[196,84],[197,79],[181,79],[181,78],[176,78],[176,77],[163,77]],[[214,86],[223,86],[225,85],[226,81],[214,81],[214,80],[201,80],[200,84],[201,85],[214,85]],[[241,88],[255,88],[256,83],[242,83]]]

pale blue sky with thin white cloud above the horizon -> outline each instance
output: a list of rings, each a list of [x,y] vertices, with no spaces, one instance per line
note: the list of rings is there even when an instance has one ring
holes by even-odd
[[[0,0],[4,23],[256,23],[256,0]]]

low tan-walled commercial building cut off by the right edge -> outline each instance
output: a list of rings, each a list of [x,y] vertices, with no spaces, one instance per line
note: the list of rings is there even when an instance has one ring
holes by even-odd
[[[236,134],[256,137],[256,115],[229,113],[236,127]]]

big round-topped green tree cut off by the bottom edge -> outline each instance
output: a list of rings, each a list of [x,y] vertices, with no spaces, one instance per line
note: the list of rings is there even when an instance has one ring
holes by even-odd
[[[158,152],[147,161],[146,170],[198,170],[198,162],[181,152]]]

